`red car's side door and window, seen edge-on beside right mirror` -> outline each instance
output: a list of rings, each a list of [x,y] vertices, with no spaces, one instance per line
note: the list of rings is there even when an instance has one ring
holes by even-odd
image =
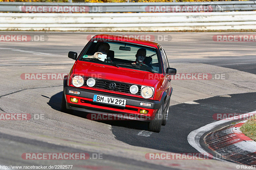
[[[166,88],[166,93],[168,95],[170,95],[170,92],[171,92],[171,76],[166,74],[166,69],[169,67],[169,63],[168,63],[168,60],[167,60],[167,56],[165,54],[165,51],[164,51],[164,48],[160,48],[160,52],[161,52],[161,55],[162,55],[162,60],[163,60],[163,68],[164,68],[164,78],[165,78],[165,88]]]

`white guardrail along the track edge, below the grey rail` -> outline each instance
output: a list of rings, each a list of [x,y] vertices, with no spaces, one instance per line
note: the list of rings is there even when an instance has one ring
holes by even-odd
[[[0,29],[166,31],[255,29],[256,11],[178,13],[0,13]]]

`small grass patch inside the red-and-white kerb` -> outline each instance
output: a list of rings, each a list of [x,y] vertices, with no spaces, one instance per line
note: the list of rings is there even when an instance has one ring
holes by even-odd
[[[240,130],[252,140],[256,141],[256,115],[252,116],[245,122]]]

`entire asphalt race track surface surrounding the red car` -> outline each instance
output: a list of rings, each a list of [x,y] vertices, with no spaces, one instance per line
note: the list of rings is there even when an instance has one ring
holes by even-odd
[[[214,42],[212,36],[216,33],[168,33],[172,39],[159,43],[164,47],[169,63],[178,72],[200,72],[202,69],[201,72],[217,73],[220,70],[229,74],[229,80],[219,80],[217,84],[220,85],[207,84],[205,81],[190,83],[172,80],[173,102],[167,124],[162,126],[160,133],[150,133],[144,122],[96,122],[87,120],[86,113],[61,113],[62,80],[29,81],[20,78],[22,73],[68,73],[74,63],[67,57],[68,51],[79,53],[87,43],[87,36],[97,33],[1,34],[46,35],[49,39],[39,42],[0,42],[0,113],[44,114],[46,118],[28,122],[0,122],[0,165],[74,165],[74,169],[200,169],[207,164],[208,169],[234,169],[235,166],[222,161],[204,165],[201,165],[202,161],[201,164],[196,161],[172,161],[166,164],[149,162],[144,160],[145,157],[137,159],[136,156],[157,150],[198,153],[189,145],[188,134],[215,122],[213,114],[255,111],[255,42]],[[188,86],[187,83],[194,85],[188,87],[194,90],[193,93],[180,87],[180,84]],[[203,87],[209,92],[204,92]],[[221,97],[227,94],[229,96]],[[191,100],[199,104],[186,103]],[[200,143],[207,152],[211,152],[202,141]],[[92,153],[103,153],[103,159],[21,159],[22,153],[34,152],[86,152],[90,156]]]

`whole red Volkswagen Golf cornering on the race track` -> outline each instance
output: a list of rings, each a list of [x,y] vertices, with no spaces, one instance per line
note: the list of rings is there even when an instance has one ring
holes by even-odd
[[[123,36],[94,36],[64,80],[61,111],[128,114],[148,122],[148,130],[165,125],[172,95],[170,68],[162,46]],[[132,116],[131,116],[132,115]]]

